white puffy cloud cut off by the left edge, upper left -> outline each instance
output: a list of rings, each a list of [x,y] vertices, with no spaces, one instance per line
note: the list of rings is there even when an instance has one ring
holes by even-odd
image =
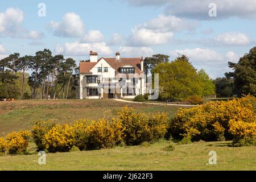
[[[18,8],[9,8],[0,13],[0,35],[27,39],[43,38],[43,32],[26,30],[23,21],[24,13]]]

